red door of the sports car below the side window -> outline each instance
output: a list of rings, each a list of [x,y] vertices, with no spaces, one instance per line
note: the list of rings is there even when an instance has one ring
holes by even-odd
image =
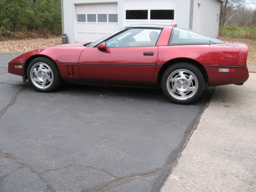
[[[153,52],[154,55],[144,56],[144,52]],[[79,71],[84,80],[150,83],[157,65],[157,56],[157,46],[107,48],[104,52],[88,48],[79,58]]]

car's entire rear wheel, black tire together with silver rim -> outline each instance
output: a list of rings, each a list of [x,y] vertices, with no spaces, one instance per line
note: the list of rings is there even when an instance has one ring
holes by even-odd
[[[188,75],[193,80],[189,80]],[[170,81],[170,78],[173,80]],[[170,101],[177,104],[190,104],[202,95],[204,77],[201,71],[190,63],[176,63],[164,72],[161,89]]]

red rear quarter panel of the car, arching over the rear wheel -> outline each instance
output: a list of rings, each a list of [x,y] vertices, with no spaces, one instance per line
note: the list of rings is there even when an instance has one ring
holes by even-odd
[[[232,46],[220,45],[175,45],[159,46],[159,55],[156,72],[169,60],[188,58],[199,62],[204,66],[209,86],[240,83],[248,79],[246,68],[248,48],[246,45]],[[236,68],[236,73],[221,73],[219,68]],[[238,68],[243,67],[243,68]],[[153,82],[157,81],[154,76]]]

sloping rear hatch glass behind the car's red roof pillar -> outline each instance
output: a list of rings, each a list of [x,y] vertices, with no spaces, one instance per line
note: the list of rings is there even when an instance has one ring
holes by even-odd
[[[173,28],[169,45],[224,44],[224,41],[187,29]]]

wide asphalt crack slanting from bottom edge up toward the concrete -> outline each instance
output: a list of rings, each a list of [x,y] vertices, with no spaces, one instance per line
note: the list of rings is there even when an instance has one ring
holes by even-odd
[[[151,170],[148,170],[147,172],[129,174],[129,175],[126,175],[124,177],[116,178],[116,179],[114,179],[112,181],[105,182],[103,184],[96,185],[96,186],[93,186],[91,188],[82,190],[82,192],[96,192],[96,191],[100,192],[100,191],[105,191],[107,189],[119,186],[121,184],[130,183],[130,182],[132,182],[134,180],[137,180],[137,179],[142,179],[142,178],[146,178],[146,177],[157,175],[157,174],[159,174],[160,171],[161,171],[161,168],[153,168]]]

